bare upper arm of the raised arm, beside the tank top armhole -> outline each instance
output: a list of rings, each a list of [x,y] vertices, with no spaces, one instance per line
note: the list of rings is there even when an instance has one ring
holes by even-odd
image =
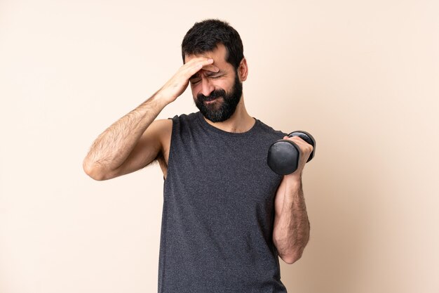
[[[158,157],[168,152],[168,136],[172,131],[173,122],[170,119],[158,119],[149,125],[139,141],[126,158],[111,175],[111,178],[132,173],[154,162]]]

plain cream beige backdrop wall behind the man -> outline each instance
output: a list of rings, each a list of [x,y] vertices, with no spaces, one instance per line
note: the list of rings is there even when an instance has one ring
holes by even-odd
[[[317,140],[288,292],[439,292],[438,14],[435,0],[0,0],[0,292],[156,292],[160,169],[93,181],[81,164],[205,18],[241,34],[250,115]],[[195,111],[188,90],[159,117]]]

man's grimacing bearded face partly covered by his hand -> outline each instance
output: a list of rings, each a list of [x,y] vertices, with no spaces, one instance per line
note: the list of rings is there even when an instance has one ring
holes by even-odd
[[[234,114],[243,93],[238,72],[225,60],[226,53],[227,49],[224,45],[219,44],[215,50],[201,54],[200,56],[212,58],[213,65],[219,71],[212,72],[203,68],[189,79],[196,107],[212,122],[229,119]],[[187,62],[194,57],[197,56],[186,56],[184,61]]]

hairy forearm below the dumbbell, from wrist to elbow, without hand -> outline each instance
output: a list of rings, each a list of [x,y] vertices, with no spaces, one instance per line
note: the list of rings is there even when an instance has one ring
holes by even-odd
[[[308,240],[309,219],[302,178],[290,176],[285,185],[281,214],[276,216],[274,221],[273,242],[282,259],[294,263],[302,256]]]

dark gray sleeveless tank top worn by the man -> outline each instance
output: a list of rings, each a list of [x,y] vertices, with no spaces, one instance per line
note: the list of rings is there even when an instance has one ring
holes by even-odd
[[[282,176],[266,164],[287,135],[256,119],[236,134],[201,112],[172,118],[158,293],[285,293],[273,245]]]

